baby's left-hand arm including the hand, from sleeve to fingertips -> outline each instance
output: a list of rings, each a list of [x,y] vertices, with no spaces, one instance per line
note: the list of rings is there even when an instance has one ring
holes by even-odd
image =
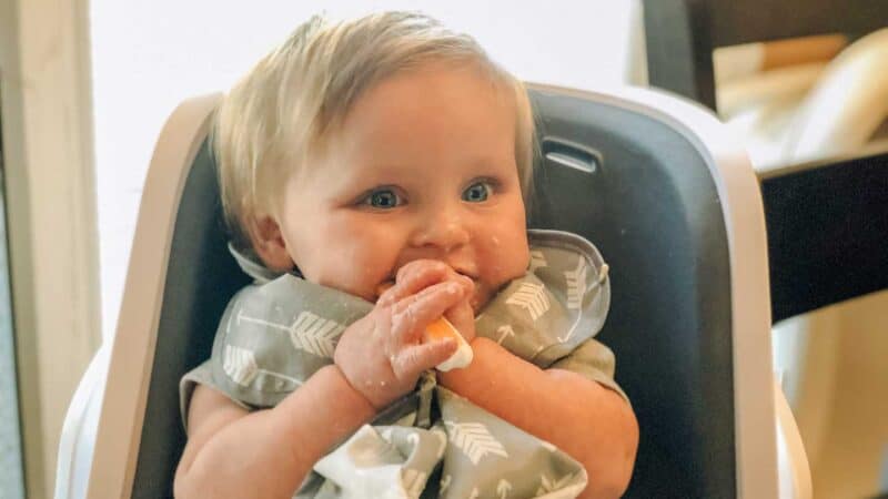
[[[248,413],[199,386],[175,496],[290,498],[322,456],[453,354],[452,339],[422,342],[425,327],[470,292],[440,281],[426,276],[396,284],[391,291],[396,299],[381,301],[345,329],[335,364],[272,409]]]

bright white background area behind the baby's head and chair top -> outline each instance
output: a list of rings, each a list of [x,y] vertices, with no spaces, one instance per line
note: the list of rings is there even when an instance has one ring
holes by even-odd
[[[163,121],[186,96],[230,86],[321,9],[336,17],[371,9],[425,11],[473,34],[525,80],[577,88],[638,81],[637,0],[551,0],[546,7],[477,0],[94,0],[90,10],[105,338],[117,323],[139,196]]]

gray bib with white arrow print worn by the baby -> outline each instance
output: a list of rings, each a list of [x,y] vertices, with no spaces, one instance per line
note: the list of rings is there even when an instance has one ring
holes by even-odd
[[[526,274],[482,310],[477,335],[541,368],[578,373],[625,398],[613,379],[613,354],[594,339],[609,306],[607,265],[574,234],[528,231],[528,240]],[[211,358],[183,377],[183,418],[198,383],[248,409],[273,407],[332,364],[339,336],[373,308],[235,257],[255,283],[229,303]],[[573,498],[586,482],[573,458],[437,386],[427,373],[416,390],[322,458],[295,497]]]

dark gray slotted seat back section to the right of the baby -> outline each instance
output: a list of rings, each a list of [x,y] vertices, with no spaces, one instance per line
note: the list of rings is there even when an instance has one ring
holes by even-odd
[[[626,497],[734,497],[730,268],[707,160],[634,111],[555,94],[534,101],[544,155],[557,160],[573,143],[586,149],[575,157],[597,160],[584,173],[544,159],[532,223],[584,235],[610,265],[599,338],[640,427]]]

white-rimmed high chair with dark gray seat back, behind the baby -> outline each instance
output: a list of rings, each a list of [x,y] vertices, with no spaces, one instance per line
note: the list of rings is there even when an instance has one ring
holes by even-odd
[[[780,431],[778,445],[776,417],[788,414],[770,367],[765,217],[739,143],[657,91],[531,93],[542,150],[531,226],[579,233],[610,266],[599,338],[640,427],[626,497],[806,497],[798,436]],[[57,499],[172,496],[179,379],[209,356],[248,283],[225,248],[206,145],[219,99],[185,101],[160,135],[117,335],[65,419]],[[788,487],[778,452],[795,456],[780,471]]]

